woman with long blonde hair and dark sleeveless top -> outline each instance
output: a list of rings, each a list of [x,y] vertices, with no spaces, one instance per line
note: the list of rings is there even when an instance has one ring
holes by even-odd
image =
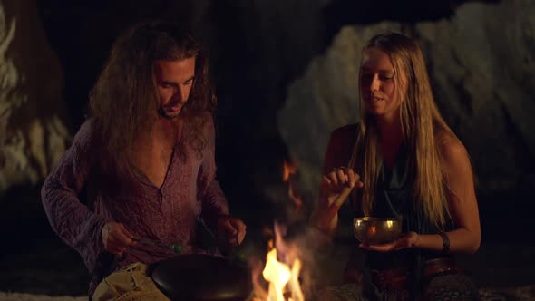
[[[316,226],[332,234],[338,217],[326,212],[344,187],[355,188],[358,216],[403,220],[401,238],[360,245],[365,296],[477,298],[452,259],[481,241],[471,162],[433,101],[422,51],[403,34],[374,36],[359,86],[360,121],[333,131],[327,147]]]

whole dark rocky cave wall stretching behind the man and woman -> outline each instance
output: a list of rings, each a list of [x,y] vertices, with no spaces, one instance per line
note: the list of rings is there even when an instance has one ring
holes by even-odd
[[[218,175],[231,209],[284,200],[283,160],[297,162],[297,189],[314,201],[329,132],[358,116],[362,46],[390,30],[423,47],[436,101],[472,155],[478,188],[528,189],[533,3],[487,2],[0,0],[0,191],[44,179],[85,118],[112,41],[147,18],[187,26],[207,45],[219,98]]]

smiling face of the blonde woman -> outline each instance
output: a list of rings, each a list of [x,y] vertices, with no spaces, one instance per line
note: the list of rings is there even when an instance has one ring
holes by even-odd
[[[367,113],[384,119],[395,118],[402,100],[398,96],[394,66],[388,54],[378,48],[368,48],[363,53],[360,66],[360,85]]]

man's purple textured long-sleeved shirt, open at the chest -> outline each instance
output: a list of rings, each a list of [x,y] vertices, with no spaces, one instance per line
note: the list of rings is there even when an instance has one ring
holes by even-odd
[[[202,158],[190,147],[186,124],[160,188],[133,172],[122,176],[112,189],[94,189],[106,180],[97,164],[102,146],[97,142],[100,134],[93,131],[92,120],[83,123],[71,148],[46,178],[41,192],[45,212],[53,230],[83,257],[92,274],[90,296],[115,268],[175,256],[171,248],[137,244],[122,257],[114,257],[102,244],[101,231],[107,221],[123,223],[138,238],[169,246],[180,243],[185,246],[183,253],[192,253],[199,252],[195,248],[198,220],[215,230],[219,215],[229,213],[215,178],[215,131],[211,116],[208,120],[203,129],[208,143]],[[90,207],[79,198],[86,185]]]

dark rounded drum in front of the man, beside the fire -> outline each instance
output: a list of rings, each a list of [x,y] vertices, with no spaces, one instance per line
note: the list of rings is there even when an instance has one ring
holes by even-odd
[[[171,300],[243,301],[253,291],[248,267],[205,254],[162,260],[151,268],[151,277]]]

